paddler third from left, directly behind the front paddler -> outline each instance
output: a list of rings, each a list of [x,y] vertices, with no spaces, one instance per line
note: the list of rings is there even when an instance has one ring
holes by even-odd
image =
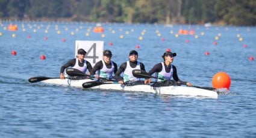
[[[145,71],[145,65],[142,62],[137,61],[138,52],[136,50],[131,50],[129,53],[129,59],[129,61],[126,61],[120,65],[114,76],[116,80],[122,85],[125,82],[136,82],[140,80],[139,78],[133,76],[133,70],[138,69]],[[121,73],[123,73],[123,77],[120,76]]]

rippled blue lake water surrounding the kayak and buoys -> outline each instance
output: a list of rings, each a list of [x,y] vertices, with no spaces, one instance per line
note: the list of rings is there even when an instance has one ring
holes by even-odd
[[[5,29],[9,23],[0,23],[1,137],[256,137],[256,61],[248,59],[256,57],[255,27],[105,23],[101,37],[92,31],[95,23],[13,22],[16,32]],[[198,38],[175,37],[179,29],[195,29]],[[104,41],[117,65],[140,46],[139,61],[147,71],[169,48],[177,53],[173,64],[181,80],[211,86],[214,74],[224,71],[232,80],[230,92],[209,99],[28,82],[35,76],[58,77],[61,65],[74,58],[75,40]]]

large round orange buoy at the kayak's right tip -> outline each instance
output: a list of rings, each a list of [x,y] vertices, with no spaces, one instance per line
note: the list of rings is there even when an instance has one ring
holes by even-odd
[[[213,88],[226,88],[229,89],[231,85],[231,79],[228,74],[224,72],[216,73],[212,79]]]

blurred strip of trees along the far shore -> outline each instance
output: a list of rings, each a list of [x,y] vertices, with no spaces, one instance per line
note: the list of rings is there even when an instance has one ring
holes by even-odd
[[[255,26],[255,0],[0,0],[0,19]]]

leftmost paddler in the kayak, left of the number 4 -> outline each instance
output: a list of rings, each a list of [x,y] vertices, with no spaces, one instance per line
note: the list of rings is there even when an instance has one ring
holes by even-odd
[[[60,79],[64,79],[63,72],[65,68],[68,68],[68,67],[76,68],[82,71],[83,73],[86,73],[88,69],[89,75],[90,75],[90,71],[92,71],[92,65],[90,64],[90,62],[84,59],[86,56],[86,51],[84,49],[78,49],[77,54],[78,54],[78,58],[71,59],[60,68]]]

